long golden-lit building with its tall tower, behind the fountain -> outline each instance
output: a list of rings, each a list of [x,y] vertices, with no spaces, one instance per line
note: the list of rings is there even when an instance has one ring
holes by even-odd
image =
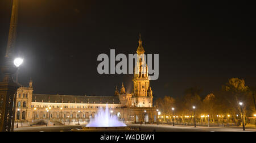
[[[141,36],[138,54],[144,53]],[[20,87],[17,91],[15,123],[38,123],[50,119],[52,124],[88,123],[98,108],[108,107],[113,115],[125,123],[156,122],[156,109],[152,107],[152,90],[146,68],[142,68],[143,59],[135,68],[133,92],[127,93],[122,83],[121,89],[115,88],[112,96],[73,96],[34,94],[32,80],[28,87]],[[143,72],[146,71],[146,72]],[[48,110],[48,112],[47,112]]]

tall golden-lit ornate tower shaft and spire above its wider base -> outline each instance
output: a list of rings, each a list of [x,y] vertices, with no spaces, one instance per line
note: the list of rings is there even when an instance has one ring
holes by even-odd
[[[142,46],[141,34],[139,35],[139,46],[137,48],[138,60],[134,69],[133,78],[133,106],[134,107],[152,107],[152,90],[148,77],[148,68],[144,48]]]

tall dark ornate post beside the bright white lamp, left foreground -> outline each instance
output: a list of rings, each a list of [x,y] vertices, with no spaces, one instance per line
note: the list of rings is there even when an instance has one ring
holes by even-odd
[[[11,125],[14,125],[14,103],[16,100],[16,96],[14,95],[16,95],[16,91],[19,87],[13,82],[12,77],[17,70],[13,63],[17,20],[18,0],[13,0],[9,37],[5,54],[5,64],[1,66],[1,71],[4,74],[4,78],[3,81],[0,82],[0,132],[13,131]]]

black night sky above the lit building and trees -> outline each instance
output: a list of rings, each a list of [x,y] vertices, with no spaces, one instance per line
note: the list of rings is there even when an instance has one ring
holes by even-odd
[[[1,65],[11,1],[0,2]],[[100,75],[97,56],[135,53],[142,34],[146,53],[158,53],[156,98],[182,96],[198,86],[202,96],[228,78],[256,86],[255,5],[223,1],[22,0],[16,48],[24,63],[19,82],[34,81],[43,94],[112,96],[133,75]]]

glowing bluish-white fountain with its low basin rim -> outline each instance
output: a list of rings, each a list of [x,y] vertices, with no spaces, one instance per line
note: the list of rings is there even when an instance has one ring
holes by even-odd
[[[108,104],[105,110],[100,108],[95,117],[82,129],[72,129],[71,131],[130,131],[125,123],[118,120],[116,115],[109,113]]]

